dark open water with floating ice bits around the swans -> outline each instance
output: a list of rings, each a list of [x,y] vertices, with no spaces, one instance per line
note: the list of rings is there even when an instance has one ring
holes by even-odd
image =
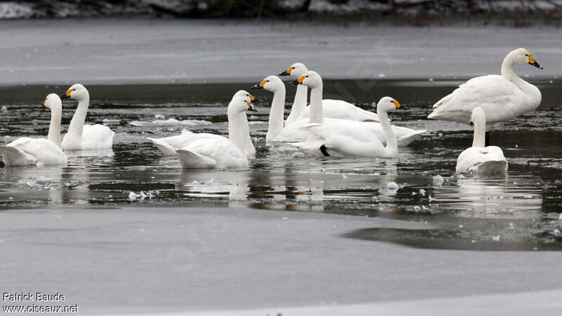
[[[457,156],[472,142],[471,127],[426,119],[433,102],[460,82],[326,81],[325,91],[333,92],[326,98],[343,95],[374,110],[371,104],[384,91],[410,107],[391,114],[393,124],[429,132],[400,148],[397,159],[308,158],[289,145],[266,145],[272,95],[256,92],[266,102],[249,116],[257,154],[245,171],[181,169],[178,159],[162,157],[146,138],[184,129],[225,135],[229,97],[254,83],[91,86],[87,120],[115,131],[112,152],[72,152],[62,168],[0,168],[0,210],[249,206],[256,211],[378,216],[431,227],[364,229],[343,236],[348,238],[433,249],[561,250],[562,107],[557,100],[562,100],[562,81],[534,81],[543,93],[540,108],[495,126],[491,141],[509,161],[509,176],[502,179],[455,176]],[[1,142],[46,135],[49,114],[39,105],[47,93],[65,88],[0,88]],[[287,105],[293,89],[288,89]],[[64,126],[74,107],[65,102]],[[388,190],[390,181],[400,188]]]

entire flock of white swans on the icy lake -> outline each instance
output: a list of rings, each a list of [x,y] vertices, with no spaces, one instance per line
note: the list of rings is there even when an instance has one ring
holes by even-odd
[[[429,119],[473,124],[472,147],[457,159],[458,173],[501,174],[507,172],[502,149],[489,145],[488,131],[499,121],[507,121],[535,110],[541,93],[514,71],[514,64],[540,67],[525,48],[511,51],[502,62],[501,75],[476,77],[433,105]],[[285,84],[280,79],[290,76],[296,85],[291,112],[285,117]],[[267,143],[284,142],[311,156],[398,157],[399,147],[407,146],[426,133],[393,126],[389,112],[407,110],[394,98],[385,96],[377,103],[377,113],[356,107],[344,100],[322,99],[322,78],[297,62],[275,76],[263,79],[252,89],[273,93],[270,107]],[[308,88],[311,89],[307,105]],[[67,133],[60,140],[61,98],[78,101],[78,107]],[[259,101],[247,91],[237,91],[228,105],[228,138],[212,133],[185,133],[166,138],[148,138],[164,155],[176,155],[184,168],[246,168],[248,158],[255,157],[247,111],[255,111]],[[44,107],[51,109],[48,138],[22,137],[0,146],[6,166],[67,164],[67,150],[110,149],[114,133],[100,124],[85,125],[89,92],[74,84],[62,96],[49,94]]]

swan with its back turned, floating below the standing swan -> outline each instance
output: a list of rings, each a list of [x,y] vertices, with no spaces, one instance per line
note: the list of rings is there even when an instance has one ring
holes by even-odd
[[[457,159],[457,173],[475,175],[502,175],[507,173],[507,161],[502,148],[485,146],[486,113],[482,107],[472,109],[471,121],[474,124],[472,147],[467,148]]]

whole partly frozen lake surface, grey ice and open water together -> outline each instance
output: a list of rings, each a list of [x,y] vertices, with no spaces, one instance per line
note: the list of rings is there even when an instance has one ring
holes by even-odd
[[[0,26],[2,143],[46,135],[39,104],[74,81],[90,90],[88,121],[116,132],[112,152],[73,154],[65,167],[0,168],[4,291],[63,292],[81,313],[529,315],[562,307],[558,29]],[[541,89],[542,105],[491,133],[508,178],[459,178],[471,126],[426,116],[462,79],[499,72],[517,46],[545,68],[516,68]],[[266,102],[249,117],[257,156],[246,171],[182,170],[146,139],[183,129],[225,135],[230,96],[297,60],[325,75],[327,98],[372,110],[393,96],[410,107],[391,114],[393,124],[429,133],[397,159],[308,158],[266,145],[272,95],[257,91]],[[289,103],[294,87],[287,91]],[[63,109],[67,126],[74,103]]]

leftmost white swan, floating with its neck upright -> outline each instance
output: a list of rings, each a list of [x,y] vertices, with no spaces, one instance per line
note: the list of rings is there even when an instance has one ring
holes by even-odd
[[[46,166],[68,163],[65,153],[59,147],[63,103],[55,93],[51,93],[45,98],[43,107],[51,109],[48,139],[22,137],[8,145],[0,146],[6,166]]]

